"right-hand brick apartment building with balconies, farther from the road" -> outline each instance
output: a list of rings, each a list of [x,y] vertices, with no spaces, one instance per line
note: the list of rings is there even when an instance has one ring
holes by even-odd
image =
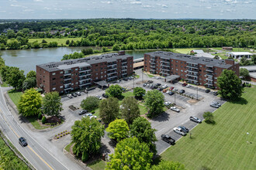
[[[239,63],[233,59],[209,59],[180,53],[157,51],[144,54],[144,70],[162,76],[178,75],[180,80],[216,88],[223,70],[234,70],[239,76]]]

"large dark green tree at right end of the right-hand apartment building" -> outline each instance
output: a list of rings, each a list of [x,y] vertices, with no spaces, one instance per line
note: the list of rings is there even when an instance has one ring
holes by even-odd
[[[218,77],[219,93],[225,99],[237,100],[243,92],[242,81],[232,70],[223,70]]]

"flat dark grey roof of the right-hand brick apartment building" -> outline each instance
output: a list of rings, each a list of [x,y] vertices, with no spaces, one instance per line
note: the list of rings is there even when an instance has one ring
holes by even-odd
[[[151,53],[145,53],[145,54],[150,56],[160,56],[162,59],[178,59],[181,61],[185,61],[187,63],[199,63],[207,66],[217,66],[223,69],[228,69],[230,68],[230,66],[232,66],[231,64],[227,64],[224,59],[209,59],[204,56],[196,57],[196,56],[190,56],[187,54],[171,53],[171,52],[164,52],[164,51],[157,51],[157,52],[151,52]]]

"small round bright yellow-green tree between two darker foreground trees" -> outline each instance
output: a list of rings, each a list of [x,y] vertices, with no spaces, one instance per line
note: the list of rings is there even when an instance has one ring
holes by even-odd
[[[109,138],[119,142],[124,138],[128,138],[130,130],[126,121],[123,119],[116,119],[109,124],[109,127],[106,128],[106,131],[109,132]]]

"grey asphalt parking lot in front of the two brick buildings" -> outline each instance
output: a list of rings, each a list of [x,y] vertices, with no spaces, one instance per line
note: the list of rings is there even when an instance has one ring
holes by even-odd
[[[133,88],[134,87],[143,87],[142,79],[141,79],[141,70],[136,71],[138,75],[140,75],[139,79],[135,80],[121,80],[119,82],[119,85],[122,87],[128,87]],[[206,93],[205,89],[198,88],[196,86],[192,87],[182,87],[182,83],[168,83],[164,82],[164,79],[156,79],[154,77],[150,78],[147,76],[147,74],[144,74],[144,81],[146,80],[153,80],[154,83],[161,83],[161,85],[167,84],[168,87],[175,87],[179,90],[185,90],[185,95],[189,95],[193,97],[194,102],[192,101],[192,98],[182,96],[178,93],[175,93],[174,95],[169,95],[167,93],[164,93],[164,100],[169,101],[172,104],[175,103],[176,107],[180,109],[180,112],[177,113],[173,110],[168,109],[165,113],[161,114],[158,117],[155,117],[154,119],[150,120],[152,128],[157,129],[156,131],[156,137],[157,137],[157,153],[160,154],[162,151],[170,147],[170,145],[164,141],[161,140],[161,134],[169,134],[171,135],[171,138],[174,138],[175,141],[177,141],[179,138],[182,138],[180,134],[176,134],[173,131],[173,128],[178,127],[180,125],[185,126],[186,128],[192,129],[197,125],[195,122],[189,121],[190,116],[199,117],[200,119],[203,119],[202,114],[206,111],[213,112],[216,110],[216,108],[210,107],[209,104],[213,101],[219,101],[220,104],[223,104],[225,101],[220,100],[220,97],[216,97],[213,95],[213,91],[210,93]],[[116,84],[116,83],[115,83]],[[111,85],[111,84],[110,84]],[[144,87],[145,90],[151,90],[149,87]],[[102,93],[105,93],[105,90],[101,90],[99,88],[95,88],[94,90],[89,90],[88,94],[81,91],[81,96],[68,98],[63,97],[61,101],[63,102],[64,110],[61,111],[61,114],[64,115],[66,118],[66,122],[64,125],[67,129],[71,128],[71,126],[74,124],[74,121],[81,119],[82,115],[78,115],[79,110],[72,111],[68,108],[70,105],[74,105],[74,107],[80,107],[81,100],[85,99],[88,96],[96,96],[99,95],[102,97]],[[196,101],[195,99],[198,98],[199,101]],[[102,97],[103,98],[103,97]],[[188,134],[189,135],[189,134]],[[175,147],[175,146],[174,146]]]

